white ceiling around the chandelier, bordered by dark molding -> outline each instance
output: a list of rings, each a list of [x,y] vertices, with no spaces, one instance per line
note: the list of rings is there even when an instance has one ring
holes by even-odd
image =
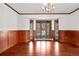
[[[19,13],[45,13],[42,10],[43,3],[8,3]],[[52,13],[70,13],[79,8],[79,3],[53,3],[55,9]]]

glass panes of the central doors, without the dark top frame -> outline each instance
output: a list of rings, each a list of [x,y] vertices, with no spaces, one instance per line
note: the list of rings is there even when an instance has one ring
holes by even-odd
[[[50,22],[37,22],[37,38],[50,38]]]

